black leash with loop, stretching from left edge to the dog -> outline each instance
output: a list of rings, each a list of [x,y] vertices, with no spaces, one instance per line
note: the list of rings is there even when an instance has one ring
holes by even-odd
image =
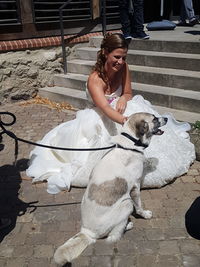
[[[0,132],[0,139],[2,138],[3,134],[7,134],[9,137],[11,137],[12,139],[15,140],[15,160],[17,159],[18,156],[18,142],[23,142],[23,143],[27,143],[30,145],[34,145],[34,146],[40,146],[40,147],[44,147],[44,148],[51,148],[51,149],[57,149],[57,150],[66,150],[66,151],[97,151],[97,150],[106,150],[106,149],[111,149],[116,147],[116,145],[112,145],[112,146],[107,146],[107,147],[100,147],[100,148],[71,148],[71,147],[56,147],[56,146],[48,146],[48,145],[43,145],[40,143],[35,143],[29,140],[25,140],[22,139],[20,137],[17,137],[13,132],[8,131],[5,126],[11,126],[16,122],[16,116],[11,113],[11,112],[0,112],[0,115],[8,115],[11,116],[12,121],[9,123],[3,122],[2,119],[0,118],[0,128],[1,128],[1,132]]]

